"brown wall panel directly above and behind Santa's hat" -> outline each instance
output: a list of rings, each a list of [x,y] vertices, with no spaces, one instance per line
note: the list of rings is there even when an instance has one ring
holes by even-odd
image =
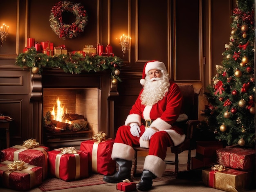
[[[169,1],[136,0],[135,63],[157,59],[168,65]]]

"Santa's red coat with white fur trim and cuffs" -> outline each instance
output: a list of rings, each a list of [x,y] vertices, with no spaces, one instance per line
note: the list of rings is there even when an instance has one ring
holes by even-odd
[[[155,127],[159,131],[168,132],[175,146],[182,143],[185,139],[182,129],[172,126],[175,121],[187,119],[185,114],[180,114],[183,96],[178,85],[170,82],[170,87],[166,96],[153,106],[141,104],[140,95],[142,92],[143,89],[135,104],[132,106],[130,114],[126,118],[125,125],[130,125],[130,123],[135,122],[141,126],[142,119],[151,119],[153,120],[153,123],[151,123],[150,127]],[[147,144],[143,142],[144,141],[140,140],[141,147],[146,147]]]

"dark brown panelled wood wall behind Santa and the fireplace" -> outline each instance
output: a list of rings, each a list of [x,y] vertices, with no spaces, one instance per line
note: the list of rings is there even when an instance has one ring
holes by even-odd
[[[111,44],[124,64],[119,75],[119,97],[115,100],[114,133],[141,89],[144,63],[157,59],[166,64],[171,79],[201,88],[211,83],[215,65],[220,65],[229,42],[230,16],[234,0],[72,0],[81,2],[88,13],[85,31],[76,39],[62,40],[49,26],[49,14],[58,0],[8,0],[1,2],[0,25],[9,25],[9,36],[0,47],[0,112],[11,116],[11,145],[31,138],[36,132],[31,117],[36,107],[30,102],[30,69],[20,69],[15,59],[27,38],[49,40],[68,51],[83,50],[97,42]],[[221,10],[221,11],[220,11]],[[132,37],[125,56],[119,37]],[[204,106],[201,94],[200,109]],[[40,110],[40,109],[38,109]],[[39,122],[40,123],[40,122]],[[1,147],[4,147],[4,132]],[[114,134],[115,135],[115,134]]]

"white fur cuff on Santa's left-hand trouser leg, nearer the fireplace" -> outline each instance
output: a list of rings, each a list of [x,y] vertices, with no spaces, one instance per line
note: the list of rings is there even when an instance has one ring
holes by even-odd
[[[124,159],[132,161],[134,158],[135,151],[130,145],[124,143],[114,143],[111,158],[112,159]]]

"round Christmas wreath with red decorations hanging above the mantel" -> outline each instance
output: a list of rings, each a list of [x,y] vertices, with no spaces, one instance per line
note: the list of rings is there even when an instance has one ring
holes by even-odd
[[[63,22],[63,12],[73,13],[76,17],[75,22],[66,24]],[[87,13],[81,3],[73,3],[70,1],[59,1],[53,7],[50,14],[50,26],[59,38],[76,38],[79,33],[84,31],[84,27],[88,21]]]

